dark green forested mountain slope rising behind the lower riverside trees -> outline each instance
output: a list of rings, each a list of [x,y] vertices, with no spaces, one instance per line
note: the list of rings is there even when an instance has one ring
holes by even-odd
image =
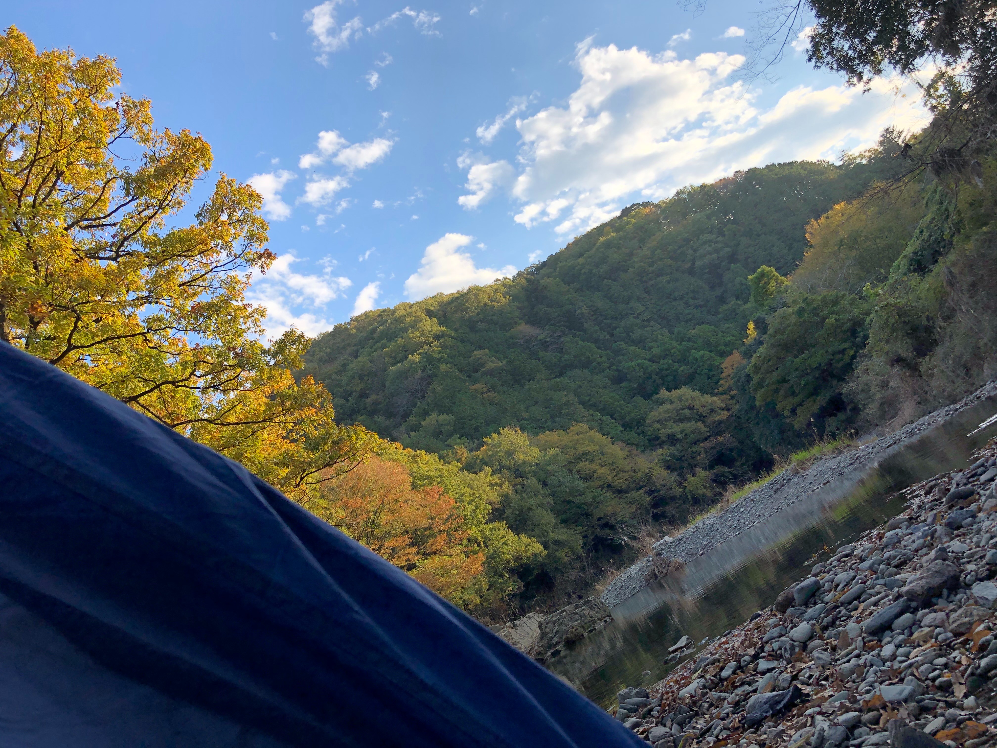
[[[783,164],[631,205],[513,278],[337,325],[307,370],[340,418],[418,449],[582,423],[647,450],[662,388],[717,388],[752,313],[749,273],[791,271],[807,222],[876,169]]]

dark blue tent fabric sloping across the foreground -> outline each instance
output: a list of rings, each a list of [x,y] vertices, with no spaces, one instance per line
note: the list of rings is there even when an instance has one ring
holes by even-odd
[[[5,746],[646,745],[240,465],[0,344]]]

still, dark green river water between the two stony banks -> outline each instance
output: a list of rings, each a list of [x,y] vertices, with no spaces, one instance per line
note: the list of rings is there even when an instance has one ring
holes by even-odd
[[[966,467],[973,451],[997,435],[997,421],[985,423],[995,413],[997,397],[967,408],[690,561],[612,608],[608,625],[547,667],[603,706],[625,686],[660,680],[679,664],[663,660],[683,634],[699,643],[744,622],[838,546],[902,512],[898,492]],[[646,670],[651,674],[642,676]]]

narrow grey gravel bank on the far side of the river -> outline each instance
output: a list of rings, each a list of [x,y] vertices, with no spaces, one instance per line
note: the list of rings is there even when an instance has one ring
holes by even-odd
[[[654,546],[654,555],[638,561],[612,580],[601,595],[602,601],[613,607],[647,586],[656,575],[655,557],[685,563],[703,556],[787,507],[806,500],[832,481],[873,465],[902,442],[993,395],[997,395],[997,382],[990,382],[959,403],[937,410],[893,434],[821,460],[806,472],[783,472],[728,509],[704,518],[679,537],[659,541]]]

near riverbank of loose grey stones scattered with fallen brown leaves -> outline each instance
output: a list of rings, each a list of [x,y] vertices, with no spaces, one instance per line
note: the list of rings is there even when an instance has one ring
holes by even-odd
[[[654,748],[893,748],[997,741],[997,447],[905,492],[774,605],[620,719]],[[686,638],[686,637],[684,637]]]

